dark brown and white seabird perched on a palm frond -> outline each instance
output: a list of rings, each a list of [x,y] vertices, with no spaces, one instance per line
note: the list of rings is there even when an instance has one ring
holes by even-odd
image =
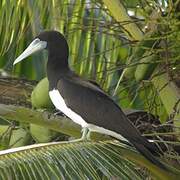
[[[82,127],[81,139],[90,132],[106,134],[134,146],[146,159],[166,169],[156,156],[159,149],[130,122],[118,104],[97,83],[74,73],[68,64],[69,46],[58,31],[41,32],[13,65],[38,51],[48,51],[49,96],[59,111]]]

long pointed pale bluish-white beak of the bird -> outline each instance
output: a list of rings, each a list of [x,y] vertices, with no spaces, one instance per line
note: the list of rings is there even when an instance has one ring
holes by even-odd
[[[41,41],[40,39],[36,38],[25,50],[24,52],[15,59],[13,66],[17,64],[18,62],[22,61],[26,57],[30,56],[31,54],[34,54],[35,52],[38,52],[40,50],[43,50],[47,47],[46,41]]]

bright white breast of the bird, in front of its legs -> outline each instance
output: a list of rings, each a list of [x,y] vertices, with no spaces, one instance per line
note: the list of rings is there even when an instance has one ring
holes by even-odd
[[[50,96],[52,103],[58,110],[63,112],[71,120],[73,120],[75,123],[81,125],[82,127],[87,126],[87,123],[84,121],[84,119],[66,105],[64,98],[61,96],[60,92],[57,89],[53,89],[53,90],[49,91],[49,96]]]

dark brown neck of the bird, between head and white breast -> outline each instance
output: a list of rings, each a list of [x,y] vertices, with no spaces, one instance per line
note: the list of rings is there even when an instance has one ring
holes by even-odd
[[[71,70],[68,66],[68,57],[52,56],[49,54],[47,62],[47,77],[49,80],[49,88],[54,89],[59,79],[69,74]]]

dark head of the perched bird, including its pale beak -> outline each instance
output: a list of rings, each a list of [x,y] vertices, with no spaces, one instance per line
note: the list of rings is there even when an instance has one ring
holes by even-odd
[[[44,31],[34,38],[24,52],[15,59],[13,65],[43,49],[68,56],[68,44],[65,37],[58,31]]]

